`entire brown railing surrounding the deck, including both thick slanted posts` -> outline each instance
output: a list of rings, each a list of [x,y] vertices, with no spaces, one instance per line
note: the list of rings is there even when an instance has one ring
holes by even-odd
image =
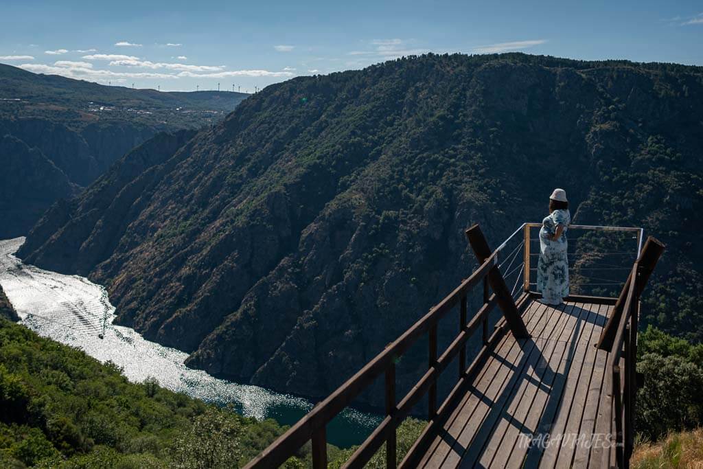
[[[479,262],[478,268],[472,275],[460,283],[441,302],[432,307],[425,316],[414,323],[399,338],[387,345],[380,354],[375,356],[366,366],[363,366],[352,378],[349,378],[329,397],[314,406],[314,409],[295,425],[292,425],[287,432],[278,437],[261,454],[252,459],[245,468],[276,468],[285,463],[290,456],[295,455],[301,446],[310,440],[314,468],[326,468],[326,425],[344,408],[349,406],[363,390],[369,387],[375,378],[380,377],[382,374],[385,375],[385,418],[356,449],[343,467],[363,467],[384,443],[386,444],[385,460],[387,468],[414,467],[424,451],[427,450],[427,446],[432,442],[434,435],[437,435],[437,432],[441,430],[441,425],[444,423],[446,416],[451,413],[453,407],[456,406],[458,400],[462,397],[465,385],[471,383],[477,373],[481,371],[482,365],[496,343],[506,333],[512,333],[515,338],[529,337],[527,328],[522,321],[521,312],[530,300],[541,296],[539,293],[530,290],[531,285],[534,285],[534,281],[531,281],[531,271],[536,270],[534,258],[538,255],[538,253],[532,252],[531,249],[532,241],[538,240],[538,238],[531,238],[530,235],[531,229],[536,229],[540,226],[541,224],[536,223],[522,224],[493,252],[491,252],[486,238],[478,225],[467,229],[465,234]],[[617,299],[615,297],[593,295],[571,295],[565,299],[565,301],[574,302],[615,304],[614,312],[597,344],[600,349],[609,352],[607,373],[605,373],[607,381],[605,389],[610,390],[610,392],[602,397],[602,399],[607,400],[605,403],[607,405],[604,406],[604,409],[608,409],[609,418],[599,420],[599,422],[607,422],[608,428],[596,428],[595,430],[597,432],[603,430],[604,433],[607,433],[606,430],[610,430],[610,423],[614,420],[617,444],[612,445],[612,448],[615,454],[610,454],[609,451],[600,451],[602,454],[598,454],[598,457],[602,458],[605,465],[610,465],[608,461],[614,460],[617,463],[617,467],[627,467],[633,448],[633,416],[636,389],[641,381],[641,377],[638,377],[635,370],[639,298],[659,256],[664,251],[664,245],[650,237],[643,247],[643,229],[640,228],[569,226],[569,231],[574,230],[629,233],[631,236],[634,235],[633,238],[636,240],[635,255],[637,260],[631,269],[626,269],[629,271],[629,276],[624,281],[624,287]],[[522,240],[520,240],[520,237],[522,237]],[[510,243],[514,240],[520,240],[520,243],[506,257],[503,252],[508,250]],[[522,254],[522,262],[512,268],[515,258],[520,257],[519,254]],[[514,286],[511,291],[505,283],[504,275],[501,273],[503,263],[498,262],[499,257],[501,259],[506,257],[505,260],[510,261],[508,269],[505,269],[509,270],[505,272],[505,274],[508,274],[506,276],[512,276],[513,272],[518,273],[515,285],[520,285],[522,288],[517,295],[515,295],[516,287]],[[586,267],[586,269],[588,268]],[[612,285],[617,284],[612,279],[609,280]],[[467,296],[471,290],[479,285],[482,285],[483,288],[482,305],[474,316],[468,319]],[[457,305],[459,310],[458,335],[456,335],[449,347],[438,356],[437,325]],[[496,305],[501,309],[503,316],[492,333],[489,334],[491,331],[489,331],[488,317]],[[482,347],[467,366],[467,340],[479,329],[482,330]],[[405,397],[400,399],[400,401],[396,401],[395,364],[408,348],[425,334],[429,338],[427,372]],[[439,375],[457,357],[458,375],[456,385],[449,392],[448,397],[438,405],[437,381]],[[410,415],[413,406],[418,404],[418,401],[425,395],[428,399],[428,424],[408,451],[406,457],[398,463],[396,461],[396,429],[404,418]]]

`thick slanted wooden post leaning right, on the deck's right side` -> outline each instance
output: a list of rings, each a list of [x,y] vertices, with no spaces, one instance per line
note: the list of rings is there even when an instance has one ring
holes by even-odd
[[[652,271],[654,271],[654,266],[657,265],[659,257],[661,257],[662,252],[664,252],[664,248],[664,244],[662,244],[661,241],[657,240],[657,238],[652,238],[652,236],[647,238],[647,241],[645,242],[645,247],[642,248],[642,252],[640,252],[640,257],[639,259],[637,259],[637,262],[639,264],[637,278],[631,278],[632,274],[628,276],[627,281],[625,282],[625,285],[622,288],[622,291],[620,292],[620,296],[618,297],[617,302],[613,307],[613,312],[610,315],[610,318],[608,318],[608,321],[605,324],[605,328],[603,328],[603,331],[600,334],[600,340],[598,340],[598,344],[596,345],[599,349],[610,352],[610,349],[613,346],[613,341],[615,340],[615,335],[617,333],[617,326],[620,323],[620,319],[622,317],[622,309],[625,306],[627,293],[628,290],[630,290],[630,282],[633,280],[636,281],[635,297],[633,298],[633,301],[639,302],[640,295],[642,294],[645,285],[647,285],[647,281],[650,279],[650,275],[652,275]]]

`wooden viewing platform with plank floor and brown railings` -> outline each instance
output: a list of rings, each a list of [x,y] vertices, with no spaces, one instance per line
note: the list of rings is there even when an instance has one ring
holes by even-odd
[[[327,423],[385,375],[386,416],[345,468],[363,467],[384,443],[389,468],[627,468],[641,382],[635,369],[639,298],[664,246],[654,238],[643,246],[641,229],[570,226],[633,231],[637,260],[628,266],[619,297],[574,295],[553,307],[530,291],[529,235],[536,226],[524,224],[511,236],[524,233],[523,289],[517,300],[498,264],[508,241],[491,252],[479,227],[472,226],[466,234],[478,269],[246,467],[278,467],[309,440],[314,468],[327,467]],[[468,317],[467,295],[479,284],[483,304]],[[503,316],[489,331],[489,313],[496,306]],[[440,354],[437,325],[450,311],[458,313],[458,335]],[[479,329],[482,347],[467,357],[467,340]],[[425,334],[427,372],[396,401],[396,361]],[[438,377],[455,359],[456,385],[440,403]],[[398,461],[396,428],[425,396],[427,426]]]

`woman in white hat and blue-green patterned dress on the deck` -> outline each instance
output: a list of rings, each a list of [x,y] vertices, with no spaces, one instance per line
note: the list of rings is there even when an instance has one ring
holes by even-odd
[[[567,230],[571,223],[567,193],[554,189],[549,198],[549,215],[539,231],[537,290],[545,304],[561,304],[569,295],[569,259]]]

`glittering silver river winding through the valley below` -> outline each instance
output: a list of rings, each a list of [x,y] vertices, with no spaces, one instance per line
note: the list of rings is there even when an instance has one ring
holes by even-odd
[[[312,408],[306,399],[192,370],[183,364],[188,356],[185,352],[112,324],[115,307],[105,288],[81,276],[22,264],[14,253],[24,240],[0,240],[0,285],[27,328],[83,349],[103,363],[112,361],[134,383],[153,376],[169,390],[221,405],[233,404],[243,416],[273,418],[281,425],[291,425]],[[379,416],[346,409],[329,423],[328,442],[341,447],[359,444],[378,423]]]

